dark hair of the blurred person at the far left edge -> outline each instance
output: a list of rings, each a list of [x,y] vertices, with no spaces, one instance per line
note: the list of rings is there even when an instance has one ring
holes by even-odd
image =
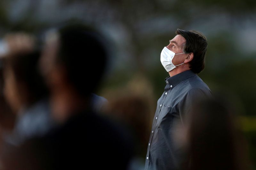
[[[28,51],[12,54],[3,60],[4,71],[12,70],[17,82],[19,92],[17,95],[26,106],[48,96],[48,89],[38,69],[40,55],[41,53],[37,50]]]

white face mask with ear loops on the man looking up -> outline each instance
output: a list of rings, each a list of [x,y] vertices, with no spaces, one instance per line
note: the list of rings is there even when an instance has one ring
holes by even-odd
[[[179,54],[185,54],[185,53],[179,53]],[[161,52],[160,60],[167,72],[173,70],[174,68],[176,68],[176,66],[180,66],[181,64],[184,64],[184,62],[183,62],[179,65],[174,66],[174,64],[172,63],[172,59],[173,59],[174,55],[178,55],[178,54],[173,53],[167,47],[164,47],[164,49]]]

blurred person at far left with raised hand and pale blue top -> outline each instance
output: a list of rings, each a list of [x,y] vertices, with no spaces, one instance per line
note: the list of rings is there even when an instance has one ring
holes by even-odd
[[[50,117],[48,89],[39,73],[41,53],[34,38],[25,33],[12,33],[4,38],[8,52],[2,53],[4,96],[16,122],[11,133],[4,132],[6,144],[20,145],[35,136],[43,136],[53,126]]]

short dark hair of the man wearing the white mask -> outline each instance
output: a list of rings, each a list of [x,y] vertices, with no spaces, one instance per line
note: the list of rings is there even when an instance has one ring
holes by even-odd
[[[177,29],[177,35],[186,39],[183,48],[185,53],[194,53],[194,58],[190,61],[190,70],[198,74],[204,69],[205,54],[207,50],[207,40],[203,33],[197,31],[184,31]]]

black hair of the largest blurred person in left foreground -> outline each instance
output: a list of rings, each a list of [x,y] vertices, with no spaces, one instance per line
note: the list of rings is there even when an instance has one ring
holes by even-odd
[[[67,78],[81,96],[94,91],[106,67],[107,42],[96,30],[82,24],[59,29],[57,64],[65,67]]]

